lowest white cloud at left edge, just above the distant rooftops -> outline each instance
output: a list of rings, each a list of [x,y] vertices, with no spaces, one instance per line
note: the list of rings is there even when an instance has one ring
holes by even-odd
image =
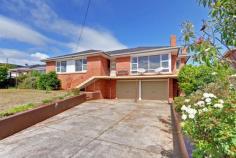
[[[40,52],[26,53],[15,49],[0,48],[1,63],[6,63],[8,59],[9,63],[17,65],[43,64],[40,60],[47,57],[47,54]]]

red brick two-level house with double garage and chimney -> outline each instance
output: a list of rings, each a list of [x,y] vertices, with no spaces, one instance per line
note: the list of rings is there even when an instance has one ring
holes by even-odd
[[[179,94],[177,74],[186,64],[186,51],[176,45],[115,51],[86,50],[52,57],[46,72],[56,71],[62,89],[99,91],[103,98],[163,100]]]

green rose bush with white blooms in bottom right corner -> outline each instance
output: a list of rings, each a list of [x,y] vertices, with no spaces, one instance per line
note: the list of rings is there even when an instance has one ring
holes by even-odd
[[[236,157],[236,92],[222,99],[213,93],[183,97],[181,126],[194,146],[193,157]],[[227,155],[227,156],[226,156]]]

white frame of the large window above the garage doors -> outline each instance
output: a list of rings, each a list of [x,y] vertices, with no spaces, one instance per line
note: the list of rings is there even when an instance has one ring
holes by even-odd
[[[138,64],[138,58],[139,57],[143,57],[143,56],[147,56],[148,57],[148,70],[152,70],[150,69],[150,60],[149,60],[149,57],[150,56],[154,56],[154,55],[160,55],[160,67],[162,67],[162,63],[163,62],[168,62],[168,68],[164,68],[164,70],[168,70],[166,72],[163,72],[163,73],[170,73],[171,72],[171,53],[162,53],[162,54],[150,54],[150,55],[134,55],[134,56],[131,56],[130,58],[130,74],[131,75],[136,75],[138,72],[133,72],[135,70],[133,70],[133,58],[137,58],[137,63],[134,63],[137,65],[137,70],[138,70],[138,67],[139,67],[139,64]],[[168,55],[168,60],[162,60],[162,55]],[[150,73],[150,72],[145,72],[145,73]],[[151,72],[152,73],[152,72]]]

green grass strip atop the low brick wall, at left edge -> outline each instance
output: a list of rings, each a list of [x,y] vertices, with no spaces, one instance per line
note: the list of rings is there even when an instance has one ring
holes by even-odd
[[[16,107],[10,108],[6,111],[0,112],[0,117],[9,116],[9,115],[13,115],[18,112],[26,111],[26,110],[34,108],[35,106],[36,105],[32,104],[32,103],[16,106]]]

